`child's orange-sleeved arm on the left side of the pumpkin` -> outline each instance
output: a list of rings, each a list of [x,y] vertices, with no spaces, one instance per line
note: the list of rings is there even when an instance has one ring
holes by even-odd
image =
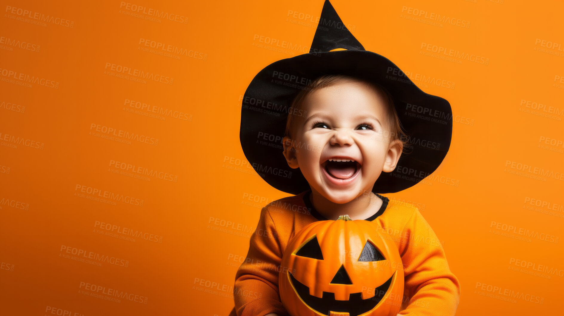
[[[249,253],[235,276],[233,297],[237,316],[287,314],[278,292],[281,261],[282,253],[274,221],[267,207],[264,207],[257,229],[250,237]]]

